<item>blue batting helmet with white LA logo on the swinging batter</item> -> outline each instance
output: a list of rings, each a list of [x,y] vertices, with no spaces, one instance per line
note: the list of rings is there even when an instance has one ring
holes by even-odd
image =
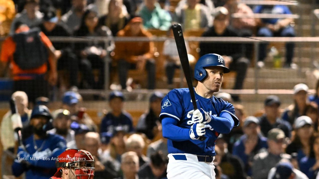
[[[224,68],[224,73],[229,73],[230,70],[225,66],[225,61],[219,54],[206,54],[200,57],[195,65],[194,77],[198,81],[202,81],[207,73],[204,67],[219,66]],[[202,74],[202,75],[200,75]]]

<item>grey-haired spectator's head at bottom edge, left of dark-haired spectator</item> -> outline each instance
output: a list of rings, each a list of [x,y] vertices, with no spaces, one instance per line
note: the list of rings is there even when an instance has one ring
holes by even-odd
[[[138,179],[138,156],[135,152],[126,152],[121,156],[121,169],[123,176],[119,179]]]

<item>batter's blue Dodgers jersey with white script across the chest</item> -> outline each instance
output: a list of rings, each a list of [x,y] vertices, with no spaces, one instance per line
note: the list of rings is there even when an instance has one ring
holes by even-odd
[[[213,96],[210,99],[199,96],[195,93],[197,108],[202,108],[204,111],[210,112],[211,115],[219,117],[222,112],[228,112],[233,117],[234,121],[238,121],[235,116],[234,106],[220,98]],[[194,124],[191,120],[189,111],[194,110],[191,102],[191,97],[188,88],[173,89],[162,100],[162,110],[160,118],[174,118],[178,121],[177,126],[188,128]],[[238,122],[235,122],[235,126]],[[215,154],[215,140],[219,133],[214,130],[218,126],[206,125],[206,139],[200,140],[184,140],[173,141],[167,140],[167,147],[169,154],[196,154],[196,155],[216,155]],[[172,131],[174,132],[174,131]]]

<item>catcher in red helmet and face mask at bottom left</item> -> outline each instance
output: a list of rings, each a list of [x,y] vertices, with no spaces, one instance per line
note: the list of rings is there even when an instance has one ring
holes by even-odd
[[[57,171],[50,179],[93,179],[93,163],[90,152],[67,148],[57,157]]]

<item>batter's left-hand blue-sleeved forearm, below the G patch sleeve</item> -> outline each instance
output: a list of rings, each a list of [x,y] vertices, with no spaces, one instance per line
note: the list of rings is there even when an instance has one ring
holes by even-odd
[[[174,141],[191,140],[189,137],[189,129],[184,129],[176,125],[176,119],[164,118],[162,120],[163,137]]]

